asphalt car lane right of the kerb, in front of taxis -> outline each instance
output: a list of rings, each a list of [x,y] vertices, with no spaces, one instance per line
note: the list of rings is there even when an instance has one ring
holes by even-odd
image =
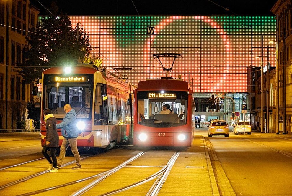
[[[291,135],[231,133],[208,139],[236,195],[292,195]]]

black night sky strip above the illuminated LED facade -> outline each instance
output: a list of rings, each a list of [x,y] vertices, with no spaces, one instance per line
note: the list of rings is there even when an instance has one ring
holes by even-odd
[[[38,0],[49,9],[51,0]],[[140,15],[273,15],[276,0],[133,0]],[[31,2],[45,15],[36,0]],[[59,9],[68,15],[137,15],[131,0],[58,0]],[[232,13],[233,12],[233,13]]]

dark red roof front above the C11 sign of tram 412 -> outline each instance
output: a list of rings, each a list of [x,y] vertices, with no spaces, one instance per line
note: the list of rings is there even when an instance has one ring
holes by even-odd
[[[175,79],[151,79],[146,81],[140,81],[138,83],[137,91],[146,90],[188,91],[188,84],[186,81]]]

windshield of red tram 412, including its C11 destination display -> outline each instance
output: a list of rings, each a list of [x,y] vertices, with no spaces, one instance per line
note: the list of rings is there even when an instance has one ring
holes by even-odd
[[[187,123],[187,92],[138,92],[138,124],[176,127]]]

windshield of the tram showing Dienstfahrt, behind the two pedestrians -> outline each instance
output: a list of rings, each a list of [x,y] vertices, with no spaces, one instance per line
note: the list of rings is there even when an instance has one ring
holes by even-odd
[[[62,84],[46,85],[44,108],[49,108],[57,119],[63,119],[66,112],[64,105],[70,104],[76,111],[76,118],[90,118],[91,114],[91,85]]]

